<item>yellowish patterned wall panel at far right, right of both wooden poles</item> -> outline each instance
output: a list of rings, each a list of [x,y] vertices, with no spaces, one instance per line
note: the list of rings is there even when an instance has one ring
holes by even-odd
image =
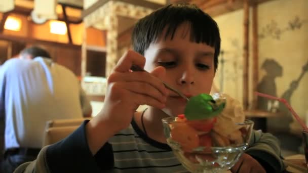
[[[285,98],[295,111],[308,114],[308,1],[278,0],[259,6],[259,85],[261,92]],[[262,100],[260,100],[262,101]],[[259,104],[260,109],[266,105]],[[278,105],[282,118],[269,119],[276,128],[292,121],[288,109]],[[295,123],[293,126],[299,127]]]

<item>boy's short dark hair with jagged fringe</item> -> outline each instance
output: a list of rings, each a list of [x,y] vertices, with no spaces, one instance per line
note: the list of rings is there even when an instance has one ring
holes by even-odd
[[[219,28],[208,14],[195,5],[171,4],[140,19],[132,33],[134,51],[144,55],[144,51],[161,36],[166,27],[165,39],[167,36],[173,39],[176,29],[184,22],[190,23],[191,41],[202,42],[215,49],[214,67],[216,71],[221,41]]]

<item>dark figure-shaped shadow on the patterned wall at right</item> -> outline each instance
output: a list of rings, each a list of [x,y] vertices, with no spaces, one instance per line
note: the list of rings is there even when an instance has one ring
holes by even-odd
[[[274,59],[266,59],[262,64],[262,69],[266,74],[258,84],[258,91],[268,95],[281,97],[286,99],[290,105],[291,97],[294,91],[297,89],[300,80],[305,72],[308,71],[308,62],[302,67],[302,71],[298,78],[294,78],[289,84],[289,88],[282,94],[277,96],[277,86],[275,79],[283,75],[283,67]],[[277,101],[268,100],[266,98],[258,98],[257,108],[265,111],[278,111],[281,113],[280,117],[268,118],[267,126],[270,131],[275,132],[290,132],[289,124],[293,121],[292,115],[284,104],[280,104]]]

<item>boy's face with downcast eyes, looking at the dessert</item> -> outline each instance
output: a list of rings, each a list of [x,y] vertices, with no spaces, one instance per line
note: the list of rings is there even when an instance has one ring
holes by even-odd
[[[165,35],[164,33],[162,35]],[[215,49],[206,44],[190,41],[190,25],[180,25],[173,39],[168,36],[159,38],[145,50],[145,69],[153,70],[157,66],[166,68],[165,82],[184,93],[187,97],[201,93],[209,94],[214,70]],[[167,114],[184,113],[186,101],[170,91],[164,111]]]

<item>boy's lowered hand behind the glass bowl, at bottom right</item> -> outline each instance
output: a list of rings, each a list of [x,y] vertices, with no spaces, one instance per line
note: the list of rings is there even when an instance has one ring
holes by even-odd
[[[232,172],[237,173],[248,173],[248,172],[258,172],[258,173],[266,173],[265,169],[262,165],[255,160],[250,155],[244,153],[239,161],[231,168]]]

